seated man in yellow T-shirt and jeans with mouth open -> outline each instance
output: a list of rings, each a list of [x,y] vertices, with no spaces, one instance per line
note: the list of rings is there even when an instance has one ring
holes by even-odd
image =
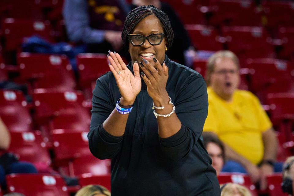
[[[222,171],[250,175],[266,188],[266,175],[282,170],[276,163],[277,139],[259,100],[238,90],[239,60],[231,51],[218,51],[207,62],[208,116],[203,131],[224,142],[227,162]]]

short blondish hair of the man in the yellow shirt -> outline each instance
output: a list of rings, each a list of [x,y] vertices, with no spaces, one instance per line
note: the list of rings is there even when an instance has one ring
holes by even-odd
[[[232,61],[236,64],[238,70],[240,69],[240,62],[237,57],[232,51],[229,50],[221,50],[214,53],[211,57],[209,57],[207,63],[206,63],[206,73],[205,73],[205,81],[206,85],[210,85],[210,75],[214,71],[214,66],[217,58],[231,58]]]

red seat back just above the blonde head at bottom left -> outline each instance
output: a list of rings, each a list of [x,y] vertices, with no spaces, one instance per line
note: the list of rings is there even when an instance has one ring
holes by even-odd
[[[79,183],[81,187],[90,185],[90,184],[99,184],[106,187],[108,190],[111,190],[111,178],[110,175],[92,175],[92,174],[82,174],[79,176]]]

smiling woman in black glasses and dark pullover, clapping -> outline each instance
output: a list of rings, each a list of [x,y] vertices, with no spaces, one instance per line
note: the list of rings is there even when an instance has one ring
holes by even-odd
[[[109,52],[111,72],[96,81],[88,134],[92,154],[112,159],[111,194],[220,195],[199,139],[205,81],[165,55],[173,40],[167,15],[151,5],[133,9],[122,39],[132,61]]]

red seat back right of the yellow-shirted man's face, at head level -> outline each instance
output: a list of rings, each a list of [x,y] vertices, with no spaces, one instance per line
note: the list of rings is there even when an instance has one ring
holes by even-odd
[[[262,102],[270,92],[291,92],[292,76],[288,61],[273,58],[247,59],[250,70],[250,90],[256,93]]]

